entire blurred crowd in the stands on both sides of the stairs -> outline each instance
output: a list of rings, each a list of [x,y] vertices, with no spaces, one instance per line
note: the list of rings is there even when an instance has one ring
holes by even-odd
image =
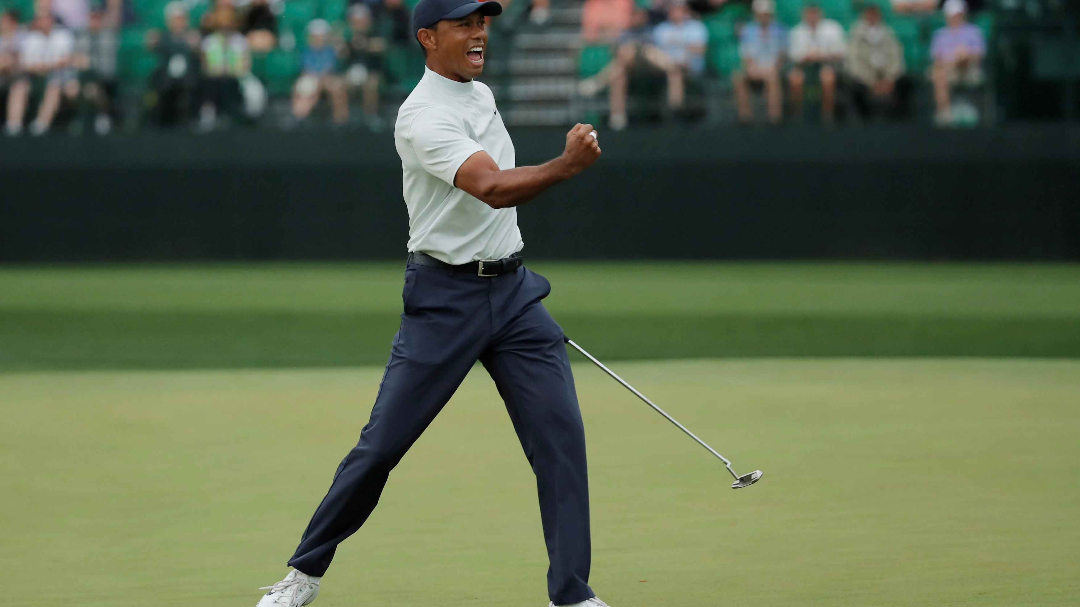
[[[552,0],[513,1],[528,3],[534,26],[550,22]],[[581,39],[610,53],[602,69],[582,74],[579,93],[607,93],[615,129],[629,123],[630,83],[643,72],[663,80],[663,102],[675,113],[688,86],[723,79],[745,123],[756,120],[756,105],[770,123],[802,120],[808,110],[832,123],[838,107],[864,120],[904,119],[923,84],[939,124],[967,120],[950,95],[983,82],[985,35],[968,19],[980,2],[832,0],[855,2],[848,8],[858,19],[846,28],[816,0],[786,1],[800,2],[793,27],[777,17],[775,0],[584,0]],[[282,128],[310,123],[325,99],[323,122],[381,129],[391,120],[380,108],[387,92],[396,86],[400,98],[415,84],[401,75],[416,72],[419,54],[403,0],[0,0],[0,8],[9,136],[45,134],[62,114],[71,133],[105,135],[119,120],[211,132],[271,120],[273,98],[288,98],[272,119]],[[935,29],[930,59],[914,66],[889,22],[920,16]],[[122,104],[125,95],[133,101]]]

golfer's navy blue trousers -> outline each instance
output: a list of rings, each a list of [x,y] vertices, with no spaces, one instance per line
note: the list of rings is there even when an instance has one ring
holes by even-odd
[[[491,278],[409,263],[405,313],[372,418],[288,564],[322,576],[337,544],[370,515],[390,470],[480,360],[532,466],[555,605],[594,596],[589,588],[585,433],[563,330],[541,300],[551,284],[526,267]]]

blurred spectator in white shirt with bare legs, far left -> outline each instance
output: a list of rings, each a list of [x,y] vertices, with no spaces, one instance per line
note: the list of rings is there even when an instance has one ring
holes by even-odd
[[[44,135],[52,126],[59,110],[62,97],[75,101],[79,96],[79,73],[71,66],[75,37],[55,27],[53,16],[41,11],[33,16],[33,24],[23,37],[18,47],[19,74],[8,94],[8,135],[23,132],[30,88],[43,82],[45,92],[38,107],[38,115],[30,123],[31,135]]]

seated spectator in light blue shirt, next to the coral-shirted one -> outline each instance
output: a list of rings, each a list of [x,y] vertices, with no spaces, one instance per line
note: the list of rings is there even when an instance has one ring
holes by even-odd
[[[699,77],[705,71],[705,44],[708,30],[705,24],[690,16],[685,0],[671,0],[667,20],[652,30],[657,52],[645,58],[667,74],[667,107],[683,108],[686,83],[684,78]]]

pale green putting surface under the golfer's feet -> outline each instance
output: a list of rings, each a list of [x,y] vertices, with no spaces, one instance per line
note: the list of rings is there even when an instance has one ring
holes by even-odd
[[[615,607],[1076,605],[1080,362],[585,363],[592,583]],[[366,420],[355,370],[0,375],[5,606],[254,605]],[[531,473],[474,372],[316,606],[546,605]]]

